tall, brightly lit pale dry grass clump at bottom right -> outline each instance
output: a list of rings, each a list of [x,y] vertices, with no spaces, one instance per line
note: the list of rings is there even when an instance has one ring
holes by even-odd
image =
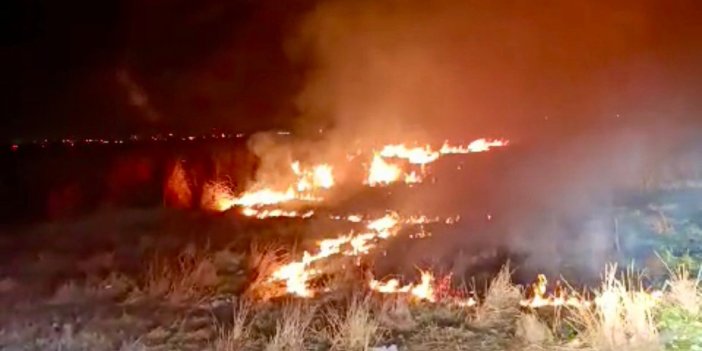
[[[658,350],[654,321],[656,302],[637,279],[617,279],[616,266],[608,266],[595,306],[572,309],[571,321],[584,343],[597,350]]]

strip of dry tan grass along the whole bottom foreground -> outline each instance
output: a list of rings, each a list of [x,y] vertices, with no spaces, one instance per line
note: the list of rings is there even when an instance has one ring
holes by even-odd
[[[142,279],[110,274],[101,280],[62,284],[34,306],[46,328],[3,323],[0,349],[702,349],[699,274],[685,266],[669,269],[659,294],[645,290],[636,276],[619,275],[610,266],[592,291],[593,304],[543,309],[520,306],[524,290],[512,283],[505,266],[479,292],[478,304],[464,307],[375,294],[358,289],[359,283],[353,281],[345,283],[353,285],[349,289],[314,299],[260,294],[260,289],[267,289],[261,277],[275,267],[279,255],[254,251],[248,260],[189,252],[172,265],[155,260]],[[232,262],[254,271],[250,275],[255,284],[239,294],[221,289],[229,273],[223,277],[220,266]],[[67,307],[92,314],[56,322],[53,315]],[[18,319],[17,312],[5,316],[11,313],[15,316],[11,320]]]

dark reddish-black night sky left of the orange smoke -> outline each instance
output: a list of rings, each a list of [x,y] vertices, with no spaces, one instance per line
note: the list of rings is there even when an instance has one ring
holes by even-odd
[[[285,125],[300,69],[283,33],[305,4],[273,3],[17,1],[3,11],[1,137]]]

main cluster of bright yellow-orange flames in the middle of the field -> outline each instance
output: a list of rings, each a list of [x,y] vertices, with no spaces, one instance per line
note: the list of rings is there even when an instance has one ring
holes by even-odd
[[[386,145],[380,151],[373,152],[368,173],[364,183],[369,186],[387,185],[398,181],[406,184],[420,183],[426,175],[427,165],[438,160],[442,155],[455,153],[470,153],[488,151],[492,147],[507,145],[507,141],[478,139],[467,146],[451,146],[444,143],[440,149],[432,149],[429,145],[422,147],[407,147],[404,144]],[[360,150],[356,156],[364,155]],[[389,162],[388,159],[397,163]],[[420,169],[405,172],[409,165],[421,166]],[[244,216],[266,219],[276,217],[308,218],[314,215],[314,210],[297,211],[289,206],[280,206],[287,202],[306,201],[320,202],[324,200],[325,192],[336,185],[334,169],[330,164],[321,163],[304,165],[300,161],[290,163],[290,174],[285,182],[277,181],[272,184],[255,184],[238,196],[223,182],[211,182],[205,186],[202,198],[203,207],[215,211],[225,211],[239,207]],[[351,230],[335,233],[330,238],[320,240],[315,248],[304,251],[297,260],[278,267],[270,276],[268,282],[284,285],[284,291],[299,297],[313,297],[317,291],[313,282],[324,273],[323,263],[331,257],[351,256],[360,257],[369,254],[377,248],[381,241],[396,236],[404,226],[422,226],[419,234],[412,237],[425,237],[423,225],[427,223],[453,224],[459,217],[442,219],[430,218],[425,215],[400,216],[396,212],[388,212],[379,218],[368,218],[362,214],[330,215],[333,220],[343,220],[353,223],[355,227],[364,226],[361,230]],[[417,283],[401,285],[397,279],[386,282],[371,280],[372,290],[381,293],[406,293],[423,301],[435,302],[443,298],[445,291],[450,289],[446,280],[436,282],[429,271],[421,271],[421,279]],[[475,300],[460,300],[461,306],[472,306]]]

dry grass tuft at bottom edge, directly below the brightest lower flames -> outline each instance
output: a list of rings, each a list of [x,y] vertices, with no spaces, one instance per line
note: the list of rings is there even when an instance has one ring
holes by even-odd
[[[314,317],[315,306],[297,301],[283,307],[276,322],[275,334],[265,346],[266,351],[303,351],[305,334]]]

